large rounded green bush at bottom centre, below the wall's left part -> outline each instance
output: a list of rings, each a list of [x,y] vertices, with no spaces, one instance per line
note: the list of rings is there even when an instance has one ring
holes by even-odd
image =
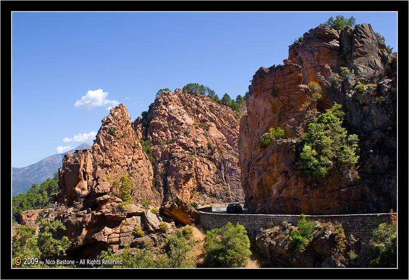
[[[209,267],[244,267],[252,254],[244,226],[230,222],[208,230],[203,248]]]

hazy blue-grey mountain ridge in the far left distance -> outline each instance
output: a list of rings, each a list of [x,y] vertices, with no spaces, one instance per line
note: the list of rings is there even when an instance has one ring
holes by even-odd
[[[75,152],[75,150],[87,149],[88,144],[81,144],[77,148],[61,154],[55,154],[41,159],[35,164],[26,167],[12,168],[12,195],[16,196],[20,193],[27,192],[33,184],[39,184],[48,178],[53,178],[54,173],[58,172],[58,168],[62,165],[62,158],[67,153]]]

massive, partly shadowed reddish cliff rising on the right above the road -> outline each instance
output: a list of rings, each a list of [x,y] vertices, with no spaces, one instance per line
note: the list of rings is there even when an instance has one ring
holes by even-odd
[[[396,57],[378,48],[370,25],[334,30],[319,26],[289,47],[284,65],[260,68],[240,124],[242,188],[250,211],[274,214],[347,214],[396,209]],[[340,67],[351,71],[340,77]],[[308,83],[322,86],[311,97]],[[354,89],[365,86],[365,92]],[[300,135],[319,111],[342,104],[344,126],[358,135],[358,174],[333,171],[311,185],[300,163]],[[286,139],[267,147],[270,127]]]

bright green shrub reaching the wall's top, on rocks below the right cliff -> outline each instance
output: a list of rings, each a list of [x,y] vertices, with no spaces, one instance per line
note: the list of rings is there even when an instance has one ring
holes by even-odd
[[[305,215],[301,214],[300,217],[301,219],[298,220],[297,227],[291,230],[287,236],[287,240],[289,241],[290,247],[302,252],[312,238],[315,225],[313,222],[307,222]]]

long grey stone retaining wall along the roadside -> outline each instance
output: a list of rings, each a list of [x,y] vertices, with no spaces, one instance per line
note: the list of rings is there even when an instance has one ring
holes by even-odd
[[[257,234],[260,228],[269,228],[271,223],[281,225],[287,221],[292,225],[297,225],[300,219],[298,215],[263,215],[263,214],[219,214],[211,213],[210,207],[198,209],[200,214],[200,225],[205,229],[222,227],[228,222],[242,224],[249,234]],[[213,210],[213,209],[212,209]],[[320,215],[305,216],[308,221],[335,222],[341,223],[345,234],[353,235],[362,241],[368,242],[372,237],[372,231],[384,222],[396,220],[396,213],[380,214],[351,214],[351,215]]]

